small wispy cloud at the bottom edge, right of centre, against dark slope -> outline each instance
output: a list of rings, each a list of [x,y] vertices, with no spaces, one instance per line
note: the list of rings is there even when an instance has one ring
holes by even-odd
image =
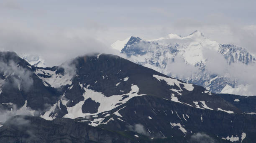
[[[217,143],[217,141],[205,133],[196,133],[190,137],[189,143]]]

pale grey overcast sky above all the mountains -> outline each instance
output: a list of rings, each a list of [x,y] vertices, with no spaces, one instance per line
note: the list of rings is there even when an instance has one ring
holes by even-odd
[[[195,30],[256,53],[255,0],[1,0],[0,49],[37,54],[49,66],[133,35],[156,39]]]

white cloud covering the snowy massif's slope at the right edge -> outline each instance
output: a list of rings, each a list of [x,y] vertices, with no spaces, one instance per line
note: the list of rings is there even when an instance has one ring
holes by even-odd
[[[250,63],[248,65],[243,63],[228,64],[227,60],[220,53],[212,50],[203,50],[203,55],[206,58],[205,72],[209,74],[217,74],[219,76],[226,76],[230,81],[236,82],[236,90],[230,94],[238,95],[256,95],[256,64]]]

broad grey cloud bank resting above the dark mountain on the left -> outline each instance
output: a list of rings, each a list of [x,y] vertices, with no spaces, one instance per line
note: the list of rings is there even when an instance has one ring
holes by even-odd
[[[41,29],[16,21],[0,22],[0,49],[40,55],[48,67],[88,53],[117,53],[98,39],[97,33],[104,28],[88,23],[77,28]]]

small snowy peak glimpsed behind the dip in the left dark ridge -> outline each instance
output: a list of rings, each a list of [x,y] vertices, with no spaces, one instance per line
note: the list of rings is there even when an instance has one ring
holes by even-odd
[[[25,59],[29,64],[34,67],[46,67],[44,59],[41,56],[22,54],[20,55],[22,59]]]

